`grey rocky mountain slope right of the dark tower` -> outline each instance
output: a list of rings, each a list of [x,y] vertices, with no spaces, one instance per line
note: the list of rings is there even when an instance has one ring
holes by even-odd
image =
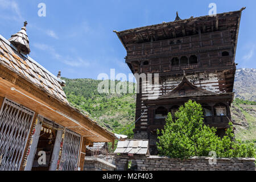
[[[240,68],[236,71],[234,81],[235,97],[243,100],[256,101],[256,69]]]

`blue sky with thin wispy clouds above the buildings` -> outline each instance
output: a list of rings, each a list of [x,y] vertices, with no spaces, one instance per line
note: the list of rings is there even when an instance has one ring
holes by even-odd
[[[38,4],[46,4],[46,17],[38,16]],[[236,54],[237,68],[256,68],[256,1],[86,1],[0,0],[0,34],[6,39],[27,20],[30,56],[48,71],[68,78],[97,78],[99,73],[125,73],[123,48],[113,30],[147,26],[175,19],[208,15],[209,3],[217,13],[242,13]]]

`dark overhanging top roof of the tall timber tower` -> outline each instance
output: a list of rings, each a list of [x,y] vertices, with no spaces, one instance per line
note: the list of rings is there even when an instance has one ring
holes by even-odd
[[[151,42],[151,40],[164,40],[183,36],[196,35],[201,32],[220,30],[234,30],[233,41],[237,44],[238,29],[243,7],[239,11],[220,13],[216,16],[199,16],[196,18],[180,19],[176,16],[173,22],[163,22],[150,26],[132,28],[124,31],[115,31],[123,46],[127,50],[128,44]]]

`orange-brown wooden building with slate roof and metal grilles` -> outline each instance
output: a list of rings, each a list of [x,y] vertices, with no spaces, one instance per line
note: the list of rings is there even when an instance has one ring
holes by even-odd
[[[28,56],[26,24],[0,35],[0,170],[82,170],[86,146],[114,134],[69,105],[60,75]]]

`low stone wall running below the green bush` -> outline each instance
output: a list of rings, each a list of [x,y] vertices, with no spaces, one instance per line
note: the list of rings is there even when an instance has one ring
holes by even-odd
[[[115,166],[118,171],[127,169],[127,161],[138,171],[255,171],[254,158],[217,158],[216,164],[209,164],[209,157],[194,157],[187,160],[161,156],[117,155]]]

